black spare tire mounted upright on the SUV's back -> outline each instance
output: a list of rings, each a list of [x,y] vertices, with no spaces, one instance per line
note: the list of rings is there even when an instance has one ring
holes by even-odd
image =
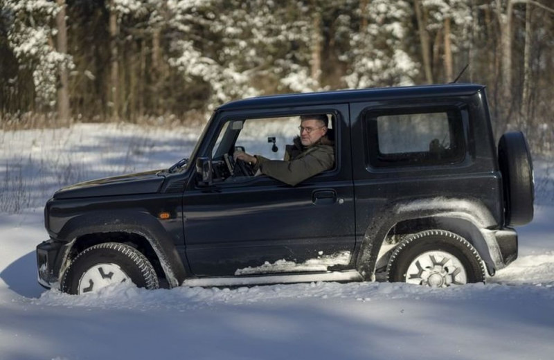
[[[506,225],[525,225],[533,220],[535,186],[533,161],[522,132],[503,134],[498,144],[502,173]]]

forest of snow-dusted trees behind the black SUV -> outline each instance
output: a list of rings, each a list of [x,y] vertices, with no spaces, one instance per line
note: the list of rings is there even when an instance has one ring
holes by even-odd
[[[237,98],[476,82],[554,143],[551,0],[0,0],[0,127],[186,125]]]

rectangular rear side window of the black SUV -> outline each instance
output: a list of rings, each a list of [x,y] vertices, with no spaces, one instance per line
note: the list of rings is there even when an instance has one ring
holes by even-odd
[[[462,161],[463,110],[389,109],[366,114],[370,165],[395,167]]]

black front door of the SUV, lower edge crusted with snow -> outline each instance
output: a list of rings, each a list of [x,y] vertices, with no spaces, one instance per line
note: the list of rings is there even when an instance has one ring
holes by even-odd
[[[348,106],[274,109],[271,113],[230,111],[220,114],[217,126],[224,129],[236,118],[274,119],[307,111],[321,111],[334,119],[334,169],[295,187],[265,176],[211,186],[190,181],[183,200],[184,234],[186,257],[195,276],[310,273],[351,266],[355,216],[350,144],[344,141],[350,136]],[[298,125],[299,120],[294,127]],[[271,135],[271,126],[262,129],[269,129]],[[267,134],[258,132],[251,138],[261,137],[271,148],[272,136]],[[211,142],[216,143],[215,139]],[[246,145],[247,152],[255,150]],[[212,156],[215,146],[205,146],[199,156]],[[284,149],[284,144],[278,146]]]

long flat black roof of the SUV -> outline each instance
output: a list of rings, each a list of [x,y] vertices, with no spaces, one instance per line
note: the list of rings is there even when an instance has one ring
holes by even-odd
[[[287,93],[271,96],[258,96],[235,100],[217,108],[218,110],[256,109],[265,107],[301,106],[339,104],[344,102],[361,102],[386,100],[402,97],[433,97],[472,95],[484,85],[480,84],[434,84],[411,87],[383,87],[356,90],[322,91],[316,93]]]

